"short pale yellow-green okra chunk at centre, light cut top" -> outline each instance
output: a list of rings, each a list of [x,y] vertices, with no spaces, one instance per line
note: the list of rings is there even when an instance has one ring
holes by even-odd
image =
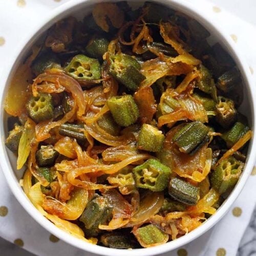
[[[141,127],[138,148],[140,150],[159,152],[163,147],[164,135],[157,127],[144,123]]]

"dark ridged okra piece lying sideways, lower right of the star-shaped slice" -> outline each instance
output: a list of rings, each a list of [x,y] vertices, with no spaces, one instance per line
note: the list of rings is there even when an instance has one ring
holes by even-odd
[[[200,198],[199,187],[193,186],[179,178],[170,180],[168,191],[173,199],[188,205],[196,205]]]

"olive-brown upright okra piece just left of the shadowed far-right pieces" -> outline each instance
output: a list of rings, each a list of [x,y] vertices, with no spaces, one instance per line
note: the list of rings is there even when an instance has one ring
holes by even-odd
[[[211,73],[203,65],[199,66],[199,78],[196,86],[204,93],[211,94],[212,89],[215,87],[214,79],[212,79]]]

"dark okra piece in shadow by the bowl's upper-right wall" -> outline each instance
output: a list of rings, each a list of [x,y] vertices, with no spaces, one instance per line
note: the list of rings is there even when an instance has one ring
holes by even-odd
[[[218,78],[216,86],[224,93],[233,90],[234,86],[241,82],[240,72],[237,68],[233,68]]]

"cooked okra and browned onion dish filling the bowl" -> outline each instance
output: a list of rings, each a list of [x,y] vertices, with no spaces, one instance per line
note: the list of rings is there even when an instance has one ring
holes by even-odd
[[[118,2],[41,37],[5,110],[6,146],[42,215],[128,249],[175,240],[215,214],[252,133],[238,111],[240,72],[209,36],[175,10]]]

